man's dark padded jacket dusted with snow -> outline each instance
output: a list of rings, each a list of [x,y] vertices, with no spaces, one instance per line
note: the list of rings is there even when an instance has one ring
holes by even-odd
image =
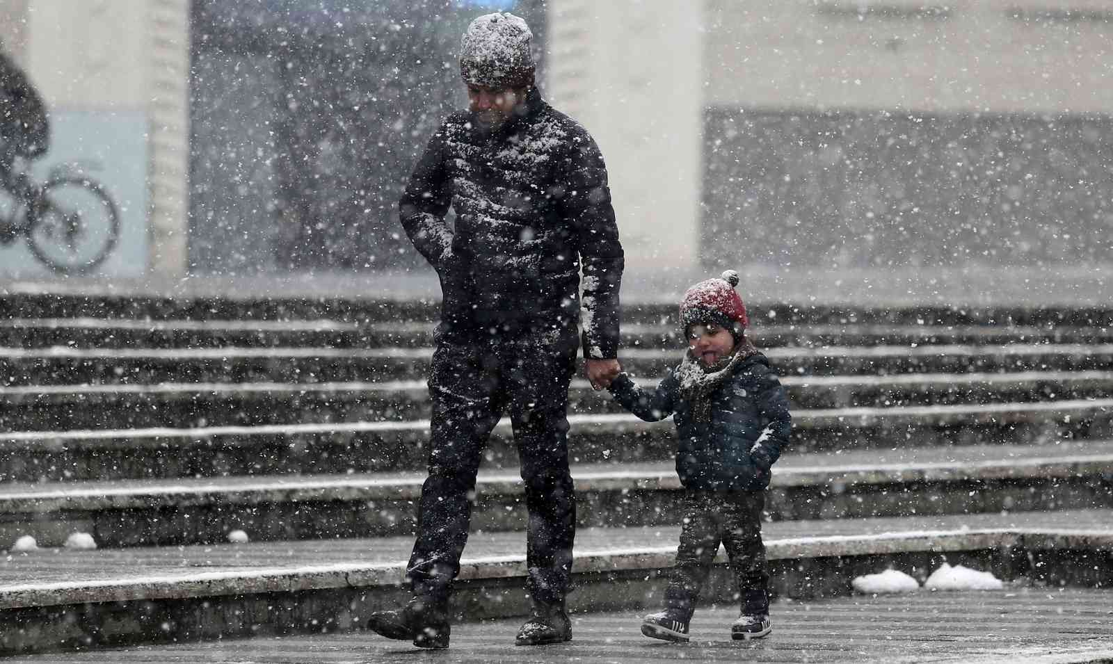
[[[475,334],[579,321],[584,355],[613,358],[623,255],[607,167],[535,89],[522,110],[493,132],[450,116],[414,168],[402,225],[441,277],[443,324]]]

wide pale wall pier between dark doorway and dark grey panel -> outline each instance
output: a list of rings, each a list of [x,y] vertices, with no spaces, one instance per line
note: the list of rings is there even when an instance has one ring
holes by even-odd
[[[703,0],[549,2],[546,91],[599,142],[628,271],[697,262]]]

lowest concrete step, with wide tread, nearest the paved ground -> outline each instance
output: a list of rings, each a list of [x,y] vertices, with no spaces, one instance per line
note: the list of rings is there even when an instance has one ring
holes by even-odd
[[[784,599],[847,595],[855,576],[887,567],[922,578],[944,561],[1015,582],[1014,592],[1026,584],[1107,587],[1110,524],[1113,511],[1094,509],[779,522],[764,529],[771,585]],[[659,605],[677,534],[674,526],[581,529],[571,608]],[[0,561],[0,650],[352,630],[405,597],[398,583],[412,544],[384,537],[10,554]],[[523,549],[521,532],[473,534],[453,599],[456,620],[528,611]],[[723,563],[720,551],[707,602],[732,603]]]

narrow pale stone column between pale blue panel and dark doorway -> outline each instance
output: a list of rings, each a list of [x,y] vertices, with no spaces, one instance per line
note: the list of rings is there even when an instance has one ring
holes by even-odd
[[[148,265],[185,276],[189,220],[189,0],[150,0]]]

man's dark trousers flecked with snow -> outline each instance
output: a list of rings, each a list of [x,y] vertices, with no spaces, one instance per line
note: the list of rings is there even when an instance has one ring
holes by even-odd
[[[536,601],[560,602],[575,537],[565,415],[575,331],[475,337],[445,335],[433,353],[429,478],[407,576],[415,595],[447,598],[467,542],[483,448],[509,407],[529,509],[528,588]]]

